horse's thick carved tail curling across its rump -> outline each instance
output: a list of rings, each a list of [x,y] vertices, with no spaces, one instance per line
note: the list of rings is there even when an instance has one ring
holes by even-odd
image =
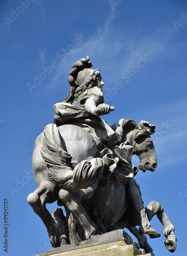
[[[72,156],[64,150],[55,123],[50,123],[44,128],[41,156],[47,163],[49,179],[68,189],[87,188],[95,183],[103,172],[104,161],[99,158],[83,160],[73,169]]]

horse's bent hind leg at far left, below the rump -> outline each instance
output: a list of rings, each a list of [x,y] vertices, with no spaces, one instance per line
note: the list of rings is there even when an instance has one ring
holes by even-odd
[[[64,239],[64,234],[46,209],[45,204],[52,203],[56,201],[57,198],[58,193],[56,192],[55,185],[51,182],[44,182],[34,191],[34,193],[31,193],[27,199],[34,212],[41,218],[46,226],[52,247],[59,247],[61,245],[62,239]]]

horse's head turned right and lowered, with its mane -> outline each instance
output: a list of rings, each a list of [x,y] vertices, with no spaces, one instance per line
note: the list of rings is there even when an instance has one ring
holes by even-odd
[[[140,159],[139,169],[143,172],[147,169],[154,172],[157,157],[150,135],[154,133],[155,125],[142,120],[138,126],[131,119],[121,119],[111,127],[116,132],[120,143],[126,141],[132,146],[132,155],[137,155]]]

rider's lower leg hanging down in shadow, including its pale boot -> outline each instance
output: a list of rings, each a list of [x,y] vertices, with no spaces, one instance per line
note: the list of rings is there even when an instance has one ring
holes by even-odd
[[[141,191],[138,183],[135,179],[131,179],[125,185],[127,200],[132,205],[133,209],[135,209],[137,216],[140,221],[139,231],[141,234],[149,234],[150,238],[160,237],[161,234],[156,232],[150,225],[150,222],[147,218],[147,214],[144,208],[144,204],[141,197]]]

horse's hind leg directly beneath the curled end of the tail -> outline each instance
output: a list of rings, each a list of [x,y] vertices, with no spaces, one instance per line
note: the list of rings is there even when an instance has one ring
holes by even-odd
[[[98,234],[99,230],[97,225],[90,219],[86,210],[82,206],[81,199],[83,194],[83,191],[80,189],[68,190],[62,188],[59,191],[59,198],[81,224],[85,231],[85,237],[89,240],[93,234]]]

